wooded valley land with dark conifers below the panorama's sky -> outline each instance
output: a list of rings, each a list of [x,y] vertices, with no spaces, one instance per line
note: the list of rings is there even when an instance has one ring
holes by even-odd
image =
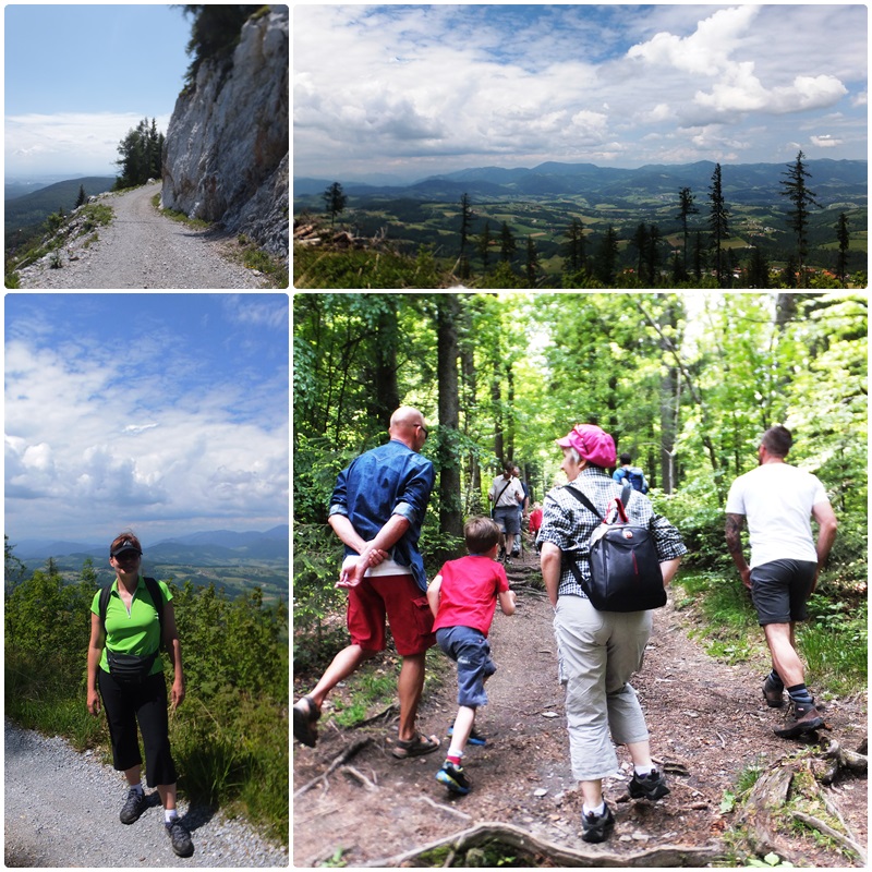
[[[609,184],[605,170],[583,174],[586,165],[576,175],[573,165],[556,165],[562,175],[531,173],[525,193],[519,182],[513,194],[472,181],[473,194],[451,194],[463,183],[434,179],[393,196],[362,186],[347,194],[334,182],[316,196],[302,183],[294,287],[865,287],[865,194],[829,178],[815,193],[810,164],[823,174],[832,161],[799,152],[774,178],[767,165],[717,164],[703,179],[693,165],[668,193],[663,179],[673,177],[652,170]],[[694,186],[678,186],[679,178]]]

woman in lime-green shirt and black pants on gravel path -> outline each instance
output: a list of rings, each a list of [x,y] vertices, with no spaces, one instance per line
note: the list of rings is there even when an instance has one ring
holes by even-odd
[[[94,595],[90,607],[87,705],[96,717],[102,701],[112,763],[128,779],[121,823],[134,823],[148,807],[141,782],[138,722],[147,783],[157,787],[167,835],[179,857],[190,857],[194,846],[175,808],[175,764],[170,752],[167,686],[159,653],[162,643],[172,659],[174,710],[184,699],[182,650],[172,594],[165,582],[140,574],[142,554],[140,540],[132,533],[123,533],[109,546],[109,565],[116,571],[116,580]]]

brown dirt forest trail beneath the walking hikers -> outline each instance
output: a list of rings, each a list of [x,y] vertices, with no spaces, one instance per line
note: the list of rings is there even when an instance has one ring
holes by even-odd
[[[631,865],[640,852],[653,851],[655,861],[644,864],[695,867],[706,860],[694,857],[726,853],[722,837],[731,820],[720,808],[725,791],[736,789],[747,767],[765,768],[804,747],[772,731],[785,715],[767,708],[760,692],[767,664],[714,661],[689,638],[689,613],[676,610],[670,595],[669,604],[655,611],[654,632],[633,686],[654,759],[671,792],[656,803],[631,800],[629,756],[618,749],[621,775],[604,784],[615,811],[615,834],[602,845],[588,845],[581,840],[581,796],[570,772],[553,613],[544,593],[526,583],[537,562],[535,554],[526,553],[508,570],[519,605],[512,617],[497,610],[492,628],[498,669],[487,685],[489,703],[476,722],[487,744],[468,748],[464,759],[473,785],[470,795],[451,797],[436,782],[444,749],[409,761],[391,756],[396,710],[348,730],[325,717],[316,748],[294,742],[294,865],[336,858],[348,867],[383,865],[488,822],[581,852],[590,865]],[[739,583],[738,578],[725,579],[732,582]],[[453,673],[446,668],[443,676],[425,692],[420,727],[443,737],[446,746],[457,690]],[[304,688],[294,688],[294,697],[302,692]],[[856,748],[867,732],[861,694],[829,701],[826,720],[834,738]],[[865,780],[847,778],[827,789],[865,845]],[[809,865],[851,865],[832,849],[806,850],[804,856]]]

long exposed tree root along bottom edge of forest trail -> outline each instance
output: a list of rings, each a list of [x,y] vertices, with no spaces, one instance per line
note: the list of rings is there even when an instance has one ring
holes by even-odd
[[[453,836],[441,838],[422,848],[388,857],[367,863],[367,868],[427,868],[433,865],[436,859],[439,865],[449,867],[458,855],[465,855],[473,851],[473,857],[468,858],[473,862],[458,862],[460,867],[480,865],[484,861],[482,846],[489,845],[499,848],[505,846],[510,851],[520,852],[529,860],[530,867],[536,865],[536,859],[547,859],[549,867],[567,868],[592,868],[610,867],[615,869],[635,869],[635,868],[673,868],[673,867],[704,867],[723,857],[723,850],[717,845],[688,846],[688,845],[663,845],[647,851],[635,851],[633,853],[607,853],[596,849],[590,851],[574,850],[564,845],[555,845],[537,838],[524,829],[510,824],[486,822],[476,824],[470,829],[456,833]],[[437,858],[431,858],[426,862],[427,855],[435,853]],[[477,857],[475,856],[477,853]],[[445,855],[443,857],[441,855]],[[544,864],[544,863],[543,863]]]

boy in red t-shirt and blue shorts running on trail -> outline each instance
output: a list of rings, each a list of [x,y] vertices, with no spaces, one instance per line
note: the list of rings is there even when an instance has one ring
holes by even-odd
[[[514,591],[496,560],[499,525],[491,518],[470,518],[463,528],[469,556],[449,560],[427,589],[436,620],[433,630],[439,647],[457,663],[458,712],[451,746],[436,780],[455,794],[469,794],[472,785],[460,765],[468,741],[484,744],[474,732],[475,712],[487,703],[484,682],[496,671],[487,633],[497,601],[505,615],[514,614]]]

